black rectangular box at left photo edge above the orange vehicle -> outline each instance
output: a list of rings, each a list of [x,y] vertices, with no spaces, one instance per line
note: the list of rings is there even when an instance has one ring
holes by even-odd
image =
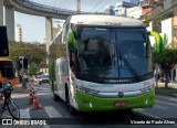
[[[0,56],[9,56],[7,26],[0,26]]]

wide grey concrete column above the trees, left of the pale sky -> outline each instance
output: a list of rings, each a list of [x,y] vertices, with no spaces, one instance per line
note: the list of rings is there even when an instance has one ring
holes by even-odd
[[[14,41],[14,8],[6,7],[6,25],[8,31],[8,40]]]

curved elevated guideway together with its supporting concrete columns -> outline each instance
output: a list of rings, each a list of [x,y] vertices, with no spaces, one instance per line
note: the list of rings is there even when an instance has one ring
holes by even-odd
[[[6,9],[6,18],[3,18],[3,6]],[[10,41],[14,41],[14,11],[32,15],[45,17],[46,43],[51,42],[53,39],[52,18],[66,20],[67,17],[76,13],[76,11],[73,10],[50,7],[30,0],[0,0],[0,25],[4,24],[4,19],[8,30],[8,39]]]

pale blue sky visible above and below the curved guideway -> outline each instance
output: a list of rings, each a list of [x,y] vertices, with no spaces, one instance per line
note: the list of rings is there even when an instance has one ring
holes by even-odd
[[[75,10],[75,0],[31,0],[38,3]],[[81,0],[81,11],[86,12],[102,12],[106,6],[115,4],[119,0]],[[126,1],[126,0],[125,0]],[[127,0],[128,1],[128,0]],[[56,23],[56,22],[58,23]],[[53,20],[53,26],[62,25],[63,20],[59,23],[60,19]],[[22,41],[23,42],[40,42],[45,40],[45,18],[14,12],[15,24],[21,24]]]

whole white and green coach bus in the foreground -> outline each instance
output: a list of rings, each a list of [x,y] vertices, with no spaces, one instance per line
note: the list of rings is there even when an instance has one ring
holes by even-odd
[[[155,104],[148,32],[139,20],[70,17],[49,46],[54,99],[69,110],[106,111]]]

